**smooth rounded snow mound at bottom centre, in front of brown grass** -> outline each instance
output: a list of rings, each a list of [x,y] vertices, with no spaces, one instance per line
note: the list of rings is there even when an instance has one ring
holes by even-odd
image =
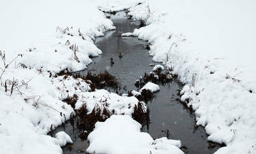
[[[88,153],[106,154],[149,154],[149,153],[183,153],[179,148],[179,140],[153,138],[140,132],[140,123],[128,115],[113,115],[105,122],[97,122],[95,129],[89,134],[90,146]]]

